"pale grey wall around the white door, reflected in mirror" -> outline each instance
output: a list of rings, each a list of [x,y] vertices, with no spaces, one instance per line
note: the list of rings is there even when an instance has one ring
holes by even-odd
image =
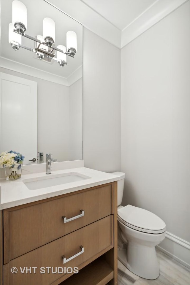
[[[44,162],[46,153],[52,153],[58,161],[69,160],[69,87],[9,69],[0,70],[37,82],[37,149],[44,153]]]

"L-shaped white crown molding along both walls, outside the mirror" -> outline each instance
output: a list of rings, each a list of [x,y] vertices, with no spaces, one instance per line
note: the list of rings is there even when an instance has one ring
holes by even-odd
[[[156,0],[122,31],[82,0],[44,0],[112,45],[122,48],[189,0]]]

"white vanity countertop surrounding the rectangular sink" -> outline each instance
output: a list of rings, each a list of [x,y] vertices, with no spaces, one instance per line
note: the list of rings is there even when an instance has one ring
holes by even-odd
[[[71,174],[77,172],[81,175],[86,175],[90,178],[65,183],[61,185],[29,190],[27,186],[23,183],[25,179],[35,179],[38,177],[47,177],[45,172],[22,174],[21,178],[15,181],[1,179],[1,209],[6,209],[18,205],[23,205],[26,203],[43,200],[50,197],[55,197],[58,195],[78,191],[81,189],[86,189],[89,187],[102,185],[105,183],[120,180],[121,177],[113,175],[106,172],[101,172],[98,170],[93,170],[86,167],[77,167],[64,170],[52,171],[52,175],[58,175],[62,173]],[[51,175],[51,174],[50,174]]]

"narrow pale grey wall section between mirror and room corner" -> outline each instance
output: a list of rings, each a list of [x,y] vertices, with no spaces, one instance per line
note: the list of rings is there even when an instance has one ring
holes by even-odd
[[[83,28],[85,167],[121,168],[120,70],[120,49]]]

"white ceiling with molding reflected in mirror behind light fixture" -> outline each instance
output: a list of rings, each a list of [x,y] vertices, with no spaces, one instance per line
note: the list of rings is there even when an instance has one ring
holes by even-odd
[[[32,37],[43,35],[43,19],[45,17],[52,18],[55,21],[55,45],[66,46],[66,32],[69,30],[75,31],[77,34],[77,53],[74,58],[67,56],[67,65],[60,67],[55,60],[52,60],[51,63],[40,61],[37,59],[36,53],[23,48],[20,48],[18,51],[13,50],[8,42],[8,25],[12,22],[12,0],[1,0],[1,66],[5,62],[8,63],[9,66],[13,66],[16,62],[22,64],[22,68],[23,66],[33,68],[34,73],[37,72],[37,70],[41,70],[43,74],[46,72],[48,76],[50,76],[50,74],[54,77],[57,76],[60,82],[62,80],[61,78],[64,80],[67,79],[82,66],[83,26],[45,1],[21,0],[21,2],[27,7],[26,34]],[[34,42],[25,37],[22,37],[22,45],[34,48]],[[2,67],[7,68],[6,65]]]

